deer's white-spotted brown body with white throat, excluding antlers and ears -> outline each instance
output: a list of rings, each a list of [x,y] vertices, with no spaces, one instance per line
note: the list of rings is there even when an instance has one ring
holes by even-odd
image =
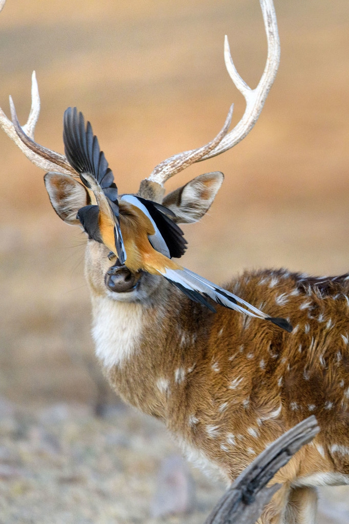
[[[106,251],[91,242],[86,276],[96,354],[112,387],[162,419],[191,460],[227,482],[315,414],[321,432],[277,474],[283,488],[263,520],[284,522],[296,504],[304,518],[296,522],[313,522],[314,488],[349,484],[349,276],[265,270],[232,281],[234,293],[289,318],[289,334],[224,308],[214,314],[161,280],[146,300],[137,300],[140,290],[119,301],[105,289]]]

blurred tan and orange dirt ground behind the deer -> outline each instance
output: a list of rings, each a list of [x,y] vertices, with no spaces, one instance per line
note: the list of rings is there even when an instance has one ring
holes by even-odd
[[[348,270],[349,4],[279,0],[281,65],[252,133],[168,183],[223,171],[209,214],[184,227],[183,264],[216,282],[245,268]],[[257,0],[7,0],[0,106],[21,123],[36,70],[36,139],[62,151],[62,115],[93,123],[120,192],[170,155],[200,146],[244,101],[223,61],[228,35],[252,87],[266,42]],[[222,486],[192,470],[189,516],[151,517],[159,425],[122,407],[95,363],[83,235],[52,211],[42,176],[0,134],[0,523],[204,521]],[[104,416],[96,417],[103,406]],[[349,522],[349,491],[321,492],[321,524]]]

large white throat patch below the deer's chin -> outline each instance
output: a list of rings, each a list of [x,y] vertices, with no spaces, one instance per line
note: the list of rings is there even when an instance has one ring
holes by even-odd
[[[92,297],[92,336],[97,358],[107,369],[121,366],[138,350],[146,320],[143,306]]]

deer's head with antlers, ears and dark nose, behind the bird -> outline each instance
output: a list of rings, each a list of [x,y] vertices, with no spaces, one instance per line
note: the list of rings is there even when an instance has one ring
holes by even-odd
[[[228,112],[221,131],[208,144],[181,152],[163,160],[149,177],[140,182],[138,195],[162,203],[173,212],[176,223],[198,221],[210,208],[223,182],[220,172],[205,173],[165,195],[164,184],[174,174],[190,166],[231,149],[241,141],[256,123],[269,89],[274,81],[279,63],[279,39],[274,6],[270,0],[260,2],[268,41],[268,57],[265,70],[255,89],[249,88],[239,76],[233,63],[227,37],[224,42],[225,64],[232,81],[246,100],[246,110],[238,124],[229,131],[233,105]],[[40,99],[35,72],[32,74],[31,110],[27,123],[18,123],[15,107],[10,97],[12,122],[0,109],[0,125],[29,160],[45,171],[45,185],[50,202],[58,216],[70,225],[80,225],[77,212],[85,205],[95,203],[95,196],[79,181],[78,173],[71,167],[66,156],[37,144],[34,130],[40,111]],[[107,250],[103,245],[88,242],[86,252],[87,275],[92,289],[107,293],[114,300],[145,300],[159,286],[159,278],[148,274],[133,274],[125,266],[111,267]],[[98,263],[96,263],[98,260]],[[103,260],[103,263],[102,263]],[[91,271],[91,267],[94,268]]]

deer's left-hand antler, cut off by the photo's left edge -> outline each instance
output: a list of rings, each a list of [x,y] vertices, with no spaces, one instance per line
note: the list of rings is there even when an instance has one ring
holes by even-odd
[[[4,0],[0,0],[0,10],[4,6]],[[36,81],[35,71],[31,76],[31,108],[27,123],[23,128],[19,125],[16,110],[12,98],[9,97],[10,109],[12,114],[11,122],[0,107],[0,126],[3,128],[6,135],[11,138],[19,147],[29,160],[35,166],[45,171],[59,171],[61,173],[70,174],[78,177],[78,173],[70,166],[67,158],[60,153],[51,151],[45,147],[37,144],[34,138],[35,125],[37,123],[40,113],[40,96],[38,84]]]

